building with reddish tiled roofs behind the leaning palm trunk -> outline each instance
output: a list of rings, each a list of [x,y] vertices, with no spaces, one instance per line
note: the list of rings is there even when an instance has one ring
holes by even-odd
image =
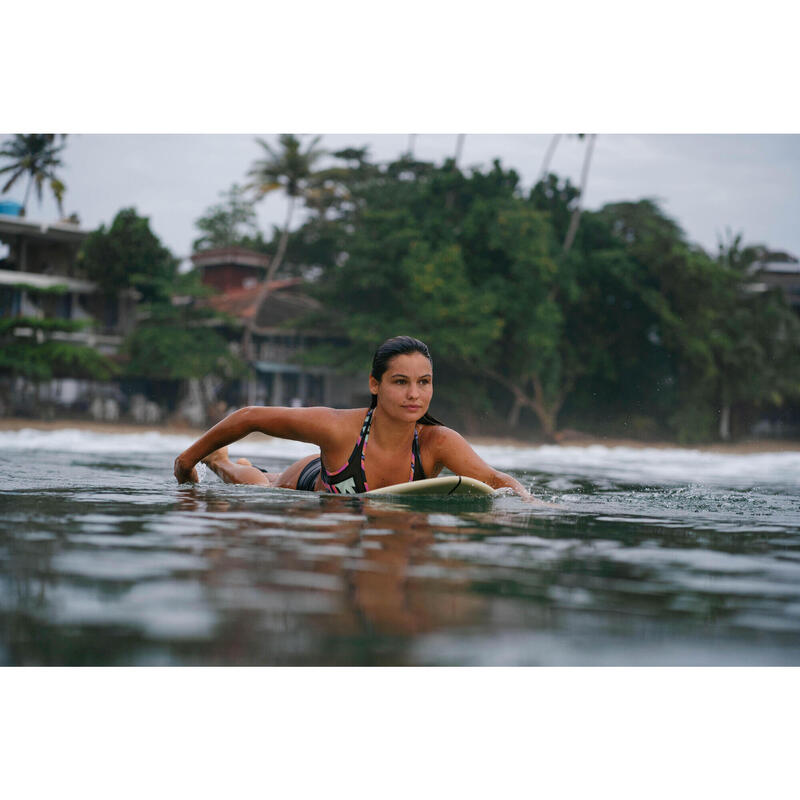
[[[202,282],[217,291],[208,306],[231,320],[218,326],[253,368],[242,386],[242,404],[349,407],[368,400],[366,378],[302,363],[315,345],[342,344],[308,324],[320,306],[304,291],[302,278],[264,286],[269,258],[241,247],[196,253],[192,262]]]

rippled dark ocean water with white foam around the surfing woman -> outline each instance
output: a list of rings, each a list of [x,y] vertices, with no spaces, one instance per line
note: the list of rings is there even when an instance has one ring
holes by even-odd
[[[476,448],[537,507],[179,487],[189,443],[0,432],[0,664],[800,664],[800,453]]]

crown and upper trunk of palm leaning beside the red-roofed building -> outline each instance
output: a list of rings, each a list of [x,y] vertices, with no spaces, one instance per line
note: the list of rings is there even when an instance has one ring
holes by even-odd
[[[278,250],[275,253],[275,257],[270,261],[265,284],[275,277],[278,268],[283,262],[286,246],[289,243],[289,226],[292,223],[295,203],[298,197],[302,197],[305,194],[313,175],[314,164],[325,153],[324,150],[317,148],[321,138],[321,136],[314,137],[305,151],[301,149],[302,142],[300,139],[292,133],[282,133],[280,135],[278,138],[280,149],[277,150],[273,149],[263,139],[256,139],[264,148],[266,158],[255,161],[247,173],[253,179],[249,188],[255,190],[257,200],[276,189],[283,189],[289,198],[286,221],[281,231]]]

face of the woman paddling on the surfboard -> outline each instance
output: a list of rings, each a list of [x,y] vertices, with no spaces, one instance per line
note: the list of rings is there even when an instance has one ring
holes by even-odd
[[[370,375],[369,389],[390,417],[415,422],[433,397],[433,367],[422,353],[404,353],[389,360],[380,381]]]

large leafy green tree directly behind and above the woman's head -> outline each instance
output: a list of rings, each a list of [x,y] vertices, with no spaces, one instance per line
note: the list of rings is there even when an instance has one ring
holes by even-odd
[[[518,175],[498,162],[466,176],[452,160],[437,168],[404,158],[348,185],[341,257],[321,297],[351,357],[413,330],[474,376],[472,396],[481,380],[504,387],[517,415],[527,404],[552,437],[563,398],[553,406],[545,395],[559,366],[561,275],[548,216],[519,195]]]

